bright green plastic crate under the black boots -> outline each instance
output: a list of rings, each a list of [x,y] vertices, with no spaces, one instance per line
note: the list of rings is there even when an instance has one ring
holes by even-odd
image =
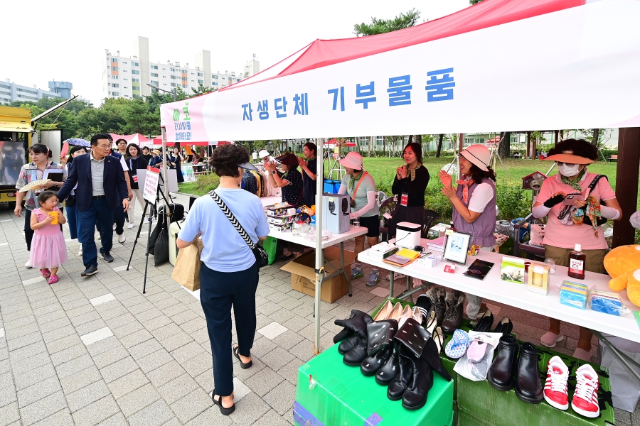
[[[314,385],[310,386],[310,379]],[[294,404],[297,425],[452,425],[453,382],[434,374],[427,404],[406,410],[387,398],[387,386],[342,362],[338,345],[300,366]]]

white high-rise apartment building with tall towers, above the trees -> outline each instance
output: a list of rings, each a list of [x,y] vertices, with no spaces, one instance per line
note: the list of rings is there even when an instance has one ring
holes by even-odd
[[[105,50],[102,59],[102,93],[105,98],[124,97],[137,99],[151,94],[155,87],[171,92],[180,88],[191,93],[191,89],[203,86],[221,89],[260,71],[260,62],[247,61],[242,71],[225,72],[211,70],[211,53],[200,50],[191,65],[188,62],[166,60],[153,62],[149,59],[149,38],[138,37],[131,57],[120,55],[119,50]]]

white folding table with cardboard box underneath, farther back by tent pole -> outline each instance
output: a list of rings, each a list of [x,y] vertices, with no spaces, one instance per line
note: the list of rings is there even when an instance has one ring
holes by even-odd
[[[336,244],[340,243],[340,266],[335,266],[334,264],[329,263],[331,267],[335,269],[335,271],[330,273],[329,275],[327,275],[326,271],[324,271],[324,266],[321,267],[320,271],[316,271],[316,273],[319,273],[321,277],[319,285],[316,285],[316,300],[314,302],[314,317],[316,320],[316,324],[315,324],[316,331],[314,333],[314,347],[316,348],[320,347],[320,290],[322,287],[322,283],[324,283],[325,280],[330,280],[331,278],[334,278],[340,274],[344,274],[347,280],[347,283],[349,285],[349,297],[351,297],[351,277],[349,277],[349,274],[346,273],[346,270],[344,268],[344,241],[355,238],[356,236],[364,235],[366,233],[367,233],[366,227],[363,227],[363,226],[356,227],[351,225],[351,227],[347,232],[344,232],[343,234],[333,234],[330,239],[327,239],[326,241],[322,241],[320,264],[321,265],[325,264],[324,249],[330,246],[335,246]],[[311,248],[316,247],[316,241],[311,241],[311,239],[307,239],[304,236],[294,235],[292,234],[291,231],[277,231],[275,229],[271,229],[269,232],[269,236],[272,236],[275,239],[289,241],[290,243],[300,244],[306,247],[311,247]]]

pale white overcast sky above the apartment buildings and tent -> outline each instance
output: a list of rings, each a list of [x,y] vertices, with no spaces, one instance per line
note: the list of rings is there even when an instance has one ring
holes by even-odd
[[[393,18],[415,8],[420,23],[469,6],[468,0],[323,1],[18,1],[3,6],[0,79],[47,89],[49,80],[73,83],[98,106],[105,49],[133,54],[138,35],[149,38],[151,61],[188,62],[211,52],[212,72],[239,72],[255,53],[260,69],[316,38],[353,37],[353,24]]]

